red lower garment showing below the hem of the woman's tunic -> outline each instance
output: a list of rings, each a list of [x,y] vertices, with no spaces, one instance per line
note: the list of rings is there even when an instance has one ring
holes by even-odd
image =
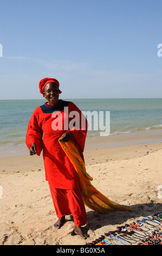
[[[82,226],[87,223],[86,209],[80,188],[63,190],[61,188],[54,188],[50,185],[49,188],[58,218],[72,214],[74,225]]]

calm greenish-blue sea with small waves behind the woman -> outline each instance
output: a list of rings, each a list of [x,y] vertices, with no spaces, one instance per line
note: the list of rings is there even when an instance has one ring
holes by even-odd
[[[69,100],[69,99],[66,99]],[[109,132],[104,136],[115,136],[145,133],[148,131],[162,132],[162,99],[73,99],[83,113],[92,113],[91,129],[87,140],[100,137],[99,121]],[[27,151],[25,133],[28,121],[37,106],[44,100],[1,100],[0,107],[0,157],[5,154],[16,154]],[[103,113],[103,120],[99,113]],[[110,118],[106,118],[106,113]],[[89,121],[88,120],[88,121]],[[90,125],[91,126],[91,125]],[[98,129],[96,129],[98,128]]]

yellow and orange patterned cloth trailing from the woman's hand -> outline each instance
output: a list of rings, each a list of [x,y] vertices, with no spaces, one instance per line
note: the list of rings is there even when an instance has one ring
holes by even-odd
[[[85,205],[88,208],[100,213],[106,213],[108,211],[132,211],[131,208],[122,206],[109,200],[98,190],[96,190],[96,188],[90,182],[93,180],[93,178],[86,172],[85,162],[82,160],[75,145],[70,141],[62,142],[60,139],[59,143],[62,149],[68,156],[69,160],[73,163],[73,166],[79,175],[80,188]]]

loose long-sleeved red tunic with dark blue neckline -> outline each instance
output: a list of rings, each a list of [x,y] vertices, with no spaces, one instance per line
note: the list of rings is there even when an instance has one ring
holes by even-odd
[[[43,149],[46,180],[50,186],[73,190],[79,187],[79,176],[59,144],[64,132],[69,132],[70,139],[83,159],[87,134],[85,116],[73,102],[61,100],[57,106],[44,103],[35,109],[29,120],[26,144],[30,148],[35,143],[37,155]]]

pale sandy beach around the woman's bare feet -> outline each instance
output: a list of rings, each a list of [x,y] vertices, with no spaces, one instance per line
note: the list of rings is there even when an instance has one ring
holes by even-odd
[[[99,214],[86,208],[89,238],[72,236],[72,216],[66,216],[61,229],[54,228],[57,217],[42,156],[5,157],[0,159],[0,245],[85,245],[119,225],[162,211],[162,143],[94,147],[84,155],[93,186],[133,211]]]

